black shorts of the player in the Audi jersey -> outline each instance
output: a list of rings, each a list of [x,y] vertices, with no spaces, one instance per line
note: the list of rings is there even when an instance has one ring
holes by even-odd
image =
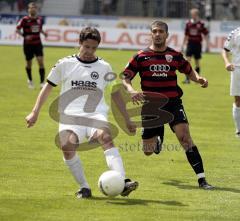
[[[160,108],[159,112],[159,119],[160,121],[157,122],[156,120],[156,113],[151,115],[151,110],[149,110],[149,106],[142,107],[142,139],[149,139],[155,136],[160,136],[163,140],[164,137],[164,124],[168,123],[170,128],[173,130],[173,127],[179,123],[187,123],[187,116],[184,111],[184,107],[182,105],[181,99],[176,99],[174,101],[169,101],[166,105]],[[169,117],[171,116],[171,117]],[[155,125],[151,124],[152,122],[156,122]],[[145,123],[144,123],[145,122]],[[150,123],[149,123],[150,122]],[[159,124],[160,122],[160,124]]]

